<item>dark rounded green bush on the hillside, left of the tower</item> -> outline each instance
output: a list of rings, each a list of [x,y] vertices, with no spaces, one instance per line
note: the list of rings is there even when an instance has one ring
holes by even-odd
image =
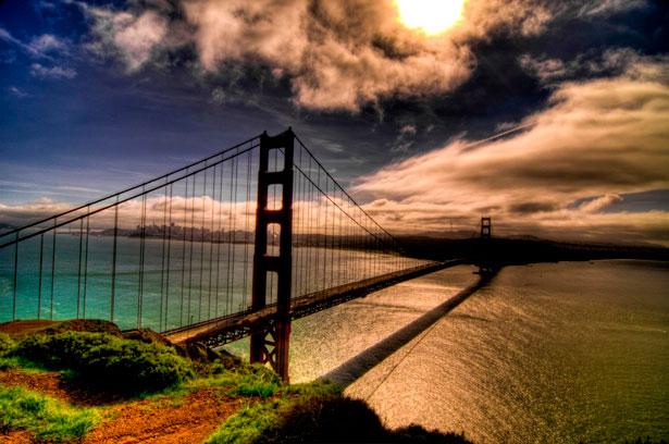
[[[193,377],[174,349],[106,333],[65,332],[23,340],[14,355],[50,369],[69,369],[76,380],[123,392],[152,392]]]

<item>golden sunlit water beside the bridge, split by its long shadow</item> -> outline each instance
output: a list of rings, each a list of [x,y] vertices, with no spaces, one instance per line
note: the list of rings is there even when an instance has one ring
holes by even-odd
[[[292,381],[368,360],[345,393],[388,425],[479,443],[669,439],[666,263],[508,267],[389,356],[366,353],[474,283],[473,271],[444,270],[296,321]]]

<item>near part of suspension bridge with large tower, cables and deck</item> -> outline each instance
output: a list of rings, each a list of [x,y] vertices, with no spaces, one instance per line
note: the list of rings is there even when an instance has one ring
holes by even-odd
[[[288,128],[0,234],[0,322],[250,336],[287,380],[292,320],[457,263],[407,257]]]

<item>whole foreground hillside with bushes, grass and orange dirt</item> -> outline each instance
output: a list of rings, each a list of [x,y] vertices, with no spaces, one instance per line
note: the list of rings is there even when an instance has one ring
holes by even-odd
[[[17,443],[467,442],[388,430],[333,384],[284,385],[265,367],[102,321],[0,324],[0,412]]]

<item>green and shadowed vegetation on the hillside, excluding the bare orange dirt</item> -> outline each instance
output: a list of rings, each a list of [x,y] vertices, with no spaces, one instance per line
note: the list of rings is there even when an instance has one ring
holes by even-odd
[[[235,407],[218,430],[212,424],[208,443],[467,442],[419,427],[389,431],[364,402],[343,396],[330,383],[284,385],[265,367],[201,349],[194,354],[152,332],[128,338],[115,326],[94,326],[14,337],[0,333],[0,371],[59,371],[61,379],[89,393],[113,392],[131,402],[160,398],[171,406],[188,394],[214,393]],[[183,405],[185,416],[188,407]],[[108,408],[74,407],[21,386],[0,385],[0,432],[24,430],[37,442],[79,442],[109,418]]]

